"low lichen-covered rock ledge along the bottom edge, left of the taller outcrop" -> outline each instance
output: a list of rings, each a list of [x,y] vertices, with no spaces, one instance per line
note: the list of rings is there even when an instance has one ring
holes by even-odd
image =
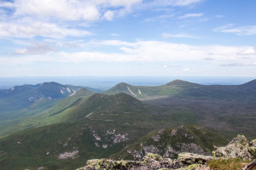
[[[206,162],[211,156],[200,156],[196,154],[183,153],[177,160],[163,158],[160,155],[148,153],[143,161],[113,161],[107,159],[89,160],[86,167],[77,170],[100,170],[100,169],[122,169],[122,170],[156,170],[156,169],[209,169]],[[193,166],[191,166],[193,164]]]

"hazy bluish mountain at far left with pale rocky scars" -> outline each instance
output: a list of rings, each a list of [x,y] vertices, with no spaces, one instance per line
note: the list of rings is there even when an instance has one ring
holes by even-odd
[[[0,90],[0,138],[24,129],[20,123],[26,121],[28,117],[43,113],[59,102],[65,103],[61,99],[91,94],[93,92],[85,88],[61,85],[56,82],[15,86],[8,90]],[[69,99],[73,102],[73,98]],[[59,104],[59,106],[62,108],[67,103]]]

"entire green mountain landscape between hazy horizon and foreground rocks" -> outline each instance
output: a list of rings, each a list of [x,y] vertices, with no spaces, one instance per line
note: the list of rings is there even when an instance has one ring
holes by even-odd
[[[1,90],[0,105],[5,108],[0,112],[0,166],[65,169],[82,167],[92,158],[133,159],[142,150],[164,154],[167,141],[186,140],[166,136],[173,129],[193,136],[187,141],[196,145],[195,153],[208,153],[213,144],[225,144],[237,133],[255,137],[255,84],[256,80],[229,86],[175,80],[149,87],[121,82],[97,94],[44,82]],[[138,147],[141,143],[144,148]],[[129,150],[134,153],[129,155]],[[169,155],[180,151],[175,146]]]

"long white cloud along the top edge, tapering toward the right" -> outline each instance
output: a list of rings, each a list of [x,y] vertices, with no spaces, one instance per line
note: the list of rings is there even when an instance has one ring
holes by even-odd
[[[15,17],[31,16],[61,20],[113,20],[133,8],[189,6],[202,0],[15,0],[0,6],[15,9]],[[113,12],[115,11],[115,12]]]

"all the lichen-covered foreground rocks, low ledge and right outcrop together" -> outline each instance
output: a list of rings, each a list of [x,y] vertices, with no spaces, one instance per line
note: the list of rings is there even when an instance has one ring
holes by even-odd
[[[256,159],[256,139],[249,142],[245,136],[238,135],[225,147],[218,147],[212,156],[202,156],[192,153],[180,153],[177,159],[163,158],[160,155],[148,153],[143,161],[113,161],[108,159],[89,160],[85,167],[77,170],[146,170],[146,169],[186,169],[207,170],[207,162],[212,159],[241,158],[242,160]]]

